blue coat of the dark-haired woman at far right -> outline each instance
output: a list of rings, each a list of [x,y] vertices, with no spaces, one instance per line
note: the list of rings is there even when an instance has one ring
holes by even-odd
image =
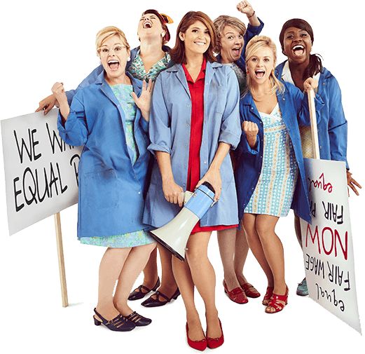
[[[283,68],[285,62],[275,69],[278,79],[284,81]],[[345,161],[347,163],[347,121],[343,113],[341,90],[336,78],[327,70],[322,69],[319,76],[318,95],[324,102],[324,108],[317,116],[319,155],[324,160]]]

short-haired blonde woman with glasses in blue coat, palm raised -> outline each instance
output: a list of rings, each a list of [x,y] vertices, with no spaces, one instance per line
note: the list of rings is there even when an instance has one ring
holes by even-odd
[[[78,90],[71,107],[62,83],[52,91],[60,104],[58,130],[64,142],[83,145],[78,165],[78,239],[107,247],[99,267],[95,325],[130,331],[151,323],[128,306],[130,289],[156,243],[142,223],[151,81],[125,72],[130,46],[116,27],[97,34],[104,71]],[[117,283],[115,294],[113,289]]]

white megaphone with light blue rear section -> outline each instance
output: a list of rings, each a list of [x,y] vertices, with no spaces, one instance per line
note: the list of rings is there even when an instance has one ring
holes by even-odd
[[[191,230],[214,204],[214,189],[208,182],[204,182],[171,222],[150,232],[158,243],[184,261]]]

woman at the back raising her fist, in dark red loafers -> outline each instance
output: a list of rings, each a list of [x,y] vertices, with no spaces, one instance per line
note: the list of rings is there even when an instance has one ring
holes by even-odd
[[[240,1],[237,11],[247,15],[249,25],[238,18],[221,15],[214,20],[217,32],[216,59],[233,69],[240,85],[240,95],[247,90],[245,49],[252,37],[260,34],[263,22],[248,1]],[[234,154],[232,156],[234,158]],[[233,164],[234,165],[234,164]],[[218,244],[223,264],[223,287],[228,298],[237,304],[246,304],[247,297],[256,298],[260,293],[247,282],[243,275],[243,266],[249,251],[249,245],[243,228],[218,231]]]

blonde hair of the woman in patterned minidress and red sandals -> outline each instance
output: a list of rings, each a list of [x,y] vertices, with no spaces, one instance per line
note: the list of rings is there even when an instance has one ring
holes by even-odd
[[[271,90],[268,92],[270,94],[276,93],[279,90],[280,93],[284,92],[284,85],[275,76],[275,67],[277,61],[276,46],[272,39],[267,36],[254,36],[246,47],[246,63],[257,53],[261,48],[270,48],[273,51],[274,68],[270,72],[269,80],[271,83]],[[249,75],[247,75],[247,87],[253,93],[253,87]]]

